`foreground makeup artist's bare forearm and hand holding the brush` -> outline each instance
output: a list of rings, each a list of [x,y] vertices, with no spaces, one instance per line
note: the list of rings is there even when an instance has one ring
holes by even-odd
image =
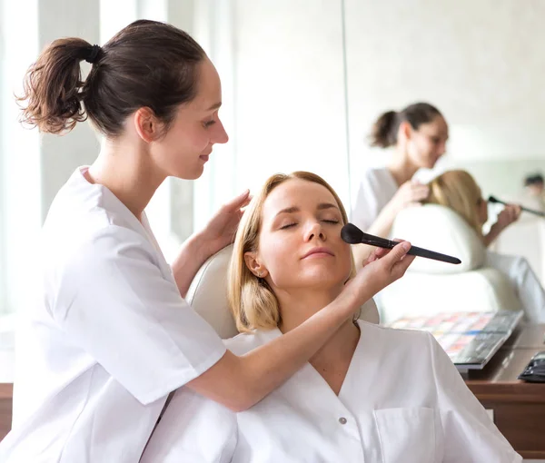
[[[401,277],[414,259],[405,256],[409,249],[401,243],[375,251],[342,293],[302,325],[242,357],[228,350],[188,387],[235,411],[252,407],[301,369],[366,300]]]

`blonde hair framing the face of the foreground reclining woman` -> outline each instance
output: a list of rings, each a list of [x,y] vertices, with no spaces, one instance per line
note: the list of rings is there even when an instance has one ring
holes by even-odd
[[[290,174],[276,173],[269,177],[261,191],[253,196],[252,202],[246,208],[234,239],[227,287],[229,305],[233,312],[236,327],[241,332],[258,328],[272,330],[281,321],[280,308],[274,292],[267,281],[256,277],[248,269],[244,254],[258,250],[263,203],[272,190],[291,179],[318,183],[327,188],[339,206],[343,224],[348,222],[348,216],[341,199],[331,185],[319,175],[312,172],[298,171]],[[351,278],[354,273],[355,266],[352,257]]]

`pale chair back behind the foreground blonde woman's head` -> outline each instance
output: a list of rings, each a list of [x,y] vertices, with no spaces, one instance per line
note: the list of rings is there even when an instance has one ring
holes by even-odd
[[[185,300],[203,317],[223,339],[238,334],[227,301],[227,271],[233,246],[214,254],[193,279]],[[379,322],[379,312],[373,300],[362,306],[360,318],[370,323]]]

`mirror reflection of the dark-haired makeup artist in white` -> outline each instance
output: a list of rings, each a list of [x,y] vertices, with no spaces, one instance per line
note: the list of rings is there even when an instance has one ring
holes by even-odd
[[[363,172],[351,222],[363,232],[387,237],[401,209],[427,198],[429,187],[413,181],[412,176],[437,163],[448,139],[449,126],[430,103],[413,103],[401,111],[381,114],[372,127],[371,145],[392,148],[393,155],[386,167]],[[366,249],[355,247],[356,261],[362,261],[358,254]]]

